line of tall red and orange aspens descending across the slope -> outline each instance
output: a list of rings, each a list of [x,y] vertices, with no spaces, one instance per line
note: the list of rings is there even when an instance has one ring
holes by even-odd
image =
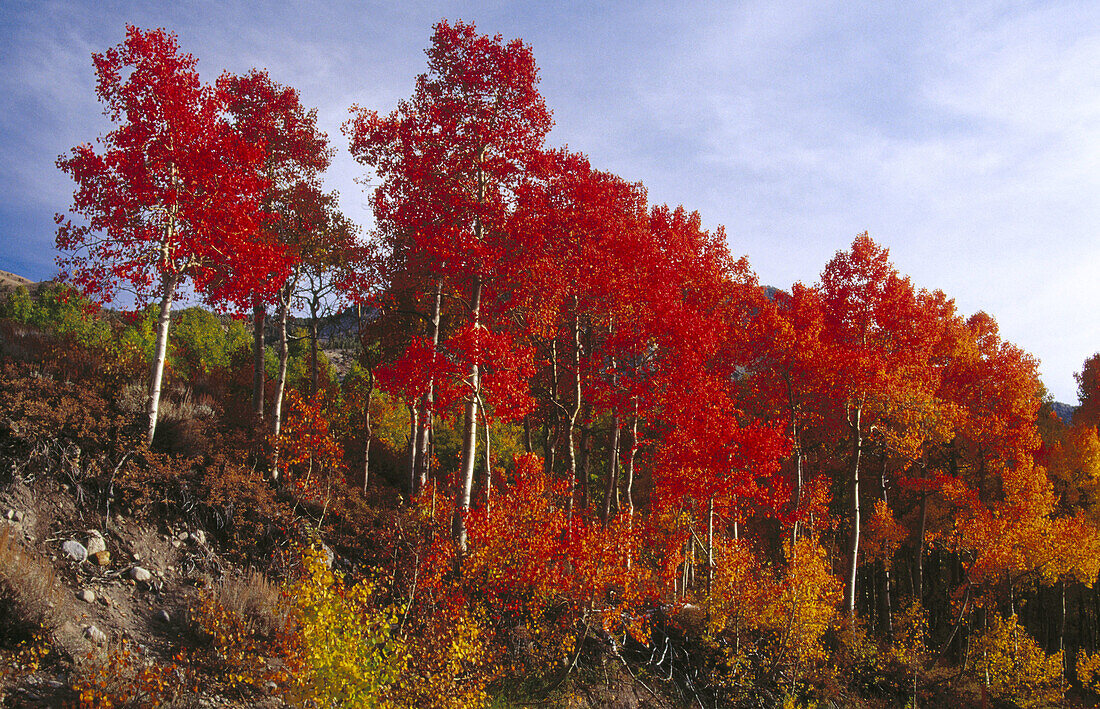
[[[556,534],[519,543],[559,580],[584,549],[623,574],[601,587],[605,608],[631,585],[640,605],[697,603],[728,662],[759,663],[758,678],[804,677],[832,623],[849,645],[865,632],[908,647],[914,701],[943,662],[985,662],[987,686],[1014,696],[1020,653],[992,679],[990,657],[997,633],[1019,647],[1019,622],[1058,658],[1048,684],[1094,682],[1097,357],[1066,425],[992,317],[917,287],[868,234],[816,283],[765,288],[723,229],[548,145],[521,41],[443,21],[427,58],[409,98],[388,113],[353,106],[342,126],[375,185],[363,239],[320,187],[333,148],[294,89],[258,70],[202,84],[163,30],[128,27],[94,55],[114,129],[58,158],[77,189],[57,246],[89,296],[158,304],[147,445],[188,285],[251,314],[252,423],[271,434],[272,477],[300,477],[306,459],[350,466],[328,433],[336,405],[309,395],[323,304],[355,304],[362,377],[341,416],[359,422],[364,491],[372,442],[399,447],[405,499],[430,500],[435,520],[448,498],[457,568],[507,556],[502,540],[531,528],[501,505],[526,500]],[[312,378],[290,397],[287,435],[296,307],[311,315]],[[403,445],[378,442],[380,396],[404,409]],[[441,425],[458,432],[453,465]],[[526,455],[495,454],[504,426]],[[770,565],[784,570],[765,583]],[[750,657],[752,636],[772,639],[769,660]]]

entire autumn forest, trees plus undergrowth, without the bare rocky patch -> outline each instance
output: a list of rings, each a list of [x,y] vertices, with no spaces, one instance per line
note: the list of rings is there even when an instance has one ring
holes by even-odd
[[[81,665],[0,530],[0,687],[74,661],[88,707],[1094,706],[1100,354],[1064,420],[869,234],[761,284],[548,144],[522,41],[441,21],[426,54],[342,126],[369,231],[294,88],[205,84],[165,30],[94,55],[113,128],[57,160],[59,283],[0,300],[0,486],[223,561],[168,650]]]

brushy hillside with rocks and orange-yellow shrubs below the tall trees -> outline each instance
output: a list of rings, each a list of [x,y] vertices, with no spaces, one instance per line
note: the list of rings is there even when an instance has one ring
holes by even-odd
[[[796,557],[770,551],[776,522],[763,507],[744,523],[716,524],[723,541],[708,577],[707,531],[694,527],[690,501],[606,523],[596,502],[572,510],[568,478],[561,468],[548,476],[521,426],[491,426],[499,467],[492,488],[479,485],[471,551],[458,554],[453,478],[433,473],[406,497],[407,408],[375,392],[370,422],[362,419],[363,355],[351,336],[360,321],[348,313],[318,329],[322,352],[346,365],[322,367],[316,395],[308,340],[295,344],[274,467],[272,439],[248,414],[250,337],[240,320],[178,313],[150,448],[141,429],[148,313],[96,314],[78,295],[48,288],[15,311],[11,302],[0,300],[6,706],[770,708],[790,704],[793,682],[818,706],[870,708],[910,701],[914,677],[922,706],[983,706],[980,675],[959,669],[971,651],[952,654],[958,630],[947,612],[937,625],[914,607],[892,611],[894,641],[849,635],[829,552],[810,536]],[[435,423],[442,470],[458,463],[460,426],[451,416]],[[1066,436],[1067,461],[1077,455],[1069,431],[1044,429]],[[637,499],[653,505],[659,478],[644,469]],[[904,499],[906,488],[892,489],[895,503]],[[824,500],[813,508],[817,523],[843,513],[827,490],[812,494]],[[949,509],[946,492],[928,499],[937,517]],[[881,523],[868,522],[870,560],[890,539]],[[1048,528],[1055,535],[1084,533],[1058,523]],[[903,540],[897,530],[889,533]],[[904,546],[894,549],[904,568]],[[928,558],[942,558],[950,547],[930,549]],[[932,598],[952,588],[950,568],[928,574]],[[1044,638],[1050,617],[1036,609],[1054,591],[1041,576],[1023,578],[1035,584],[1014,590],[1023,622],[997,614],[968,642],[990,652],[1008,642],[997,633],[1014,634],[1042,663],[1027,675],[1042,684],[1030,686],[1089,706],[1094,655],[1079,629],[1091,622],[1082,601],[1096,591],[1059,581],[1077,609],[1063,638],[1082,643],[1078,684],[1065,687],[1056,655],[1030,634]],[[985,592],[994,597],[996,581]],[[873,599],[862,608],[870,625]],[[912,656],[923,668],[902,660]],[[1019,691],[1024,675],[999,672],[998,691]]]

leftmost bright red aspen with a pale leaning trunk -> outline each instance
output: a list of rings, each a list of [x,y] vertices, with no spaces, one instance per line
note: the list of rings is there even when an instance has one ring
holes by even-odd
[[[72,214],[58,214],[63,276],[110,301],[120,288],[160,306],[150,373],[145,441],[156,430],[168,324],[185,281],[209,293],[221,284],[266,292],[285,275],[285,251],[258,236],[267,182],[263,152],[223,120],[227,97],[204,85],[174,34],[127,27],[92,55],[96,93],[114,123],[101,149],[73,148],[57,166],[77,184]]]

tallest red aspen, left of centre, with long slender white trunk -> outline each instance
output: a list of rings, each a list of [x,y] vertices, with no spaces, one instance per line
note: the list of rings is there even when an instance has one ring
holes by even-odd
[[[393,258],[403,268],[429,274],[433,347],[444,283],[465,310],[470,346],[453,531],[464,550],[486,324],[482,303],[509,243],[510,196],[542,146],[550,113],[536,88],[530,48],[521,41],[505,43],[477,34],[471,24],[444,21],[436,25],[427,54],[428,71],[417,79],[410,100],[386,117],[354,107],[344,130],[356,159],[381,179],[373,203]],[[430,406],[430,400],[422,405],[425,418]]]

